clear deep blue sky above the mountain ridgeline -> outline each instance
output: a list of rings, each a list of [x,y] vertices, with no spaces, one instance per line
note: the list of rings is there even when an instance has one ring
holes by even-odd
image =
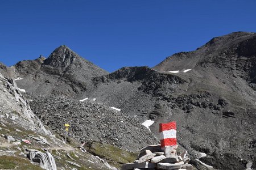
[[[152,67],[235,31],[256,32],[255,0],[2,0],[0,62],[48,57],[67,45],[110,72]]]

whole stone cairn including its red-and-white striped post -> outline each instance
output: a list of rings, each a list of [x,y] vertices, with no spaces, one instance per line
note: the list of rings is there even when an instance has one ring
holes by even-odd
[[[124,164],[122,170],[139,169],[174,169],[193,170],[193,166],[188,164],[187,151],[177,155],[176,142],[176,122],[159,125],[160,145],[151,145],[143,148],[138,155],[138,159],[133,163]]]

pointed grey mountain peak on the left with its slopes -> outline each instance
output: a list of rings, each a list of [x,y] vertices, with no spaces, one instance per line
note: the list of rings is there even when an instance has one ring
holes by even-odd
[[[55,49],[48,58],[21,61],[13,68],[20,88],[42,95],[73,96],[85,91],[90,78],[108,74],[67,46]]]

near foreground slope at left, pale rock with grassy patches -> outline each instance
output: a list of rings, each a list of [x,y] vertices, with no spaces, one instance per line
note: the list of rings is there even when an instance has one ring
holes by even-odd
[[[0,169],[107,170],[135,158],[133,153],[113,145],[92,141],[84,146],[89,152],[81,150],[77,147],[81,144],[70,136],[65,144],[64,137],[57,138],[31,111],[15,80],[2,74],[0,96]],[[64,129],[62,126],[59,128]],[[109,152],[113,158],[109,158]]]

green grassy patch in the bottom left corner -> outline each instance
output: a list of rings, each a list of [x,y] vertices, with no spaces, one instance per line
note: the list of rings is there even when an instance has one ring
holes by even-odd
[[[29,160],[14,156],[0,156],[0,169],[15,168],[20,170],[42,170],[39,166],[31,164]]]

